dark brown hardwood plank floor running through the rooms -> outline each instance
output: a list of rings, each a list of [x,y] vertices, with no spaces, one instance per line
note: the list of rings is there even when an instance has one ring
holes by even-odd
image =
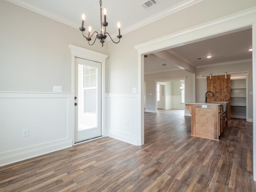
[[[256,192],[252,122],[190,136],[182,110],[145,112],[145,144],[109,137],[0,167],[0,192]]]

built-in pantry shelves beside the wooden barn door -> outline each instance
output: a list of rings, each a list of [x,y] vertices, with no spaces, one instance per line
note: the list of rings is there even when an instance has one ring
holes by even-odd
[[[230,77],[231,118],[246,119],[247,76]]]

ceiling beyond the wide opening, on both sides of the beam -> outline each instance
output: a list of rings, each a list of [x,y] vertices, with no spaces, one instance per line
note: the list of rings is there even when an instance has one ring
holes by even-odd
[[[252,52],[248,50],[251,48],[252,29],[246,28],[239,31],[231,31],[228,34],[220,34],[218,37],[208,38],[207,40],[199,40],[198,42],[177,46],[167,51],[184,62],[200,68],[240,60],[250,60],[252,59]],[[147,56],[144,61],[145,74],[179,69],[171,62],[154,58],[154,54]],[[212,57],[206,58],[206,56]],[[162,66],[163,63],[166,63],[166,66]]]

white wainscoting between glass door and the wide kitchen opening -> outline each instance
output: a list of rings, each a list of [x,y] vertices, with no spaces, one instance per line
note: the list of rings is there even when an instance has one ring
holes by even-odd
[[[138,145],[138,132],[140,115],[134,112],[138,106],[137,94],[106,94],[108,136]]]

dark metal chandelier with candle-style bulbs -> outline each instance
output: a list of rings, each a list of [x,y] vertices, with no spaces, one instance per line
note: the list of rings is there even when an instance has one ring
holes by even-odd
[[[93,45],[96,41],[96,39],[100,40],[101,44],[102,44],[102,47],[103,47],[103,44],[105,42],[105,39],[107,38],[107,32],[106,32],[106,26],[108,26],[108,22],[106,22],[106,15],[107,15],[107,10],[106,8],[104,8],[103,10],[103,14],[104,14],[104,22],[102,22],[102,1],[100,0],[100,33],[94,31],[93,34],[91,35],[91,32],[92,32],[92,27],[89,26],[88,28],[88,37],[86,37],[84,35],[84,31],[85,31],[85,28],[84,28],[84,22],[85,22],[85,14],[82,14],[82,26],[79,28],[80,31],[82,31],[82,34],[84,36],[84,38],[86,38],[86,40],[88,41],[88,44],[89,45]],[[120,38],[122,38],[122,35],[120,35],[120,22],[117,23],[117,27],[118,27],[118,36],[116,36],[119,40],[118,42],[114,42],[114,40],[111,38],[110,34],[108,34],[108,36],[110,37],[110,39],[112,40],[112,42],[114,43],[119,43],[120,42]],[[92,36],[94,34],[97,34],[93,43],[90,44],[90,41],[92,40]]]

